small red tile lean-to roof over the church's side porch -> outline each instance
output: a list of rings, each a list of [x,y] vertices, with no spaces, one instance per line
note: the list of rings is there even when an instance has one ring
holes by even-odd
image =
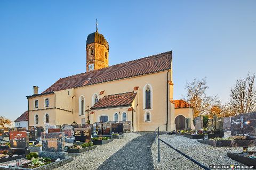
[[[137,93],[134,92],[126,92],[124,94],[104,96],[91,109],[131,106],[136,95]]]

